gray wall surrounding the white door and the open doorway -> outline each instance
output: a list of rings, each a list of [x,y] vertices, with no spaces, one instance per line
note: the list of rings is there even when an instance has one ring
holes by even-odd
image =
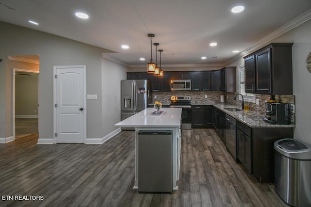
[[[86,94],[98,96],[97,100],[87,100],[86,137],[97,139],[111,132],[102,132],[103,119],[109,119],[102,119],[102,91],[107,90],[102,88],[102,53],[105,49],[4,22],[0,22],[0,28],[0,58],[3,59],[0,63],[0,138],[12,136],[12,68],[6,67],[7,55],[40,56],[39,139],[53,138],[54,65],[86,65]]]

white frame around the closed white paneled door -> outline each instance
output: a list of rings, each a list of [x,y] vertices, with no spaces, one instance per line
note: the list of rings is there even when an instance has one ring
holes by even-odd
[[[56,126],[57,126],[57,120],[56,120],[56,70],[60,68],[82,68],[83,69],[83,76],[84,76],[84,143],[86,143],[86,65],[60,65],[60,66],[53,66],[53,143],[56,143]]]

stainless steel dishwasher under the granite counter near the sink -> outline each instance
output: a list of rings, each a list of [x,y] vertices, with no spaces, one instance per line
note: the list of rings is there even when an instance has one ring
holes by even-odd
[[[233,157],[237,158],[236,149],[236,120],[225,114],[225,146]]]

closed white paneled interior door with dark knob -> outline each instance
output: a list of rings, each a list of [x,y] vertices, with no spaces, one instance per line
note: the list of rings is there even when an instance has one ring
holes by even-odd
[[[54,66],[56,143],[85,143],[86,67]]]

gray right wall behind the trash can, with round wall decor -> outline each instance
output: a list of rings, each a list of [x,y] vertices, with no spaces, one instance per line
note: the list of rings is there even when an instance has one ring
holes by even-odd
[[[294,138],[311,143],[311,73],[306,68],[306,58],[311,52],[311,20],[282,34],[271,42],[293,42],[293,83],[296,127]],[[240,58],[228,66],[244,64]],[[284,83],[286,84],[286,83]]]

